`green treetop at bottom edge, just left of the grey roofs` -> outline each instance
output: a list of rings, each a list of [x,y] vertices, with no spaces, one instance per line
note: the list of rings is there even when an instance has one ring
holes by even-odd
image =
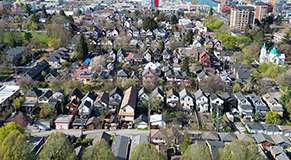
[[[85,149],[83,160],[114,160],[116,159],[108,143],[102,138],[94,145]]]

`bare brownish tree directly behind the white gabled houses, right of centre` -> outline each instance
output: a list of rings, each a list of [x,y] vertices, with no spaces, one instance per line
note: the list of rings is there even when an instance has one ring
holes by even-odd
[[[216,93],[219,90],[224,89],[224,82],[217,75],[210,75],[204,78],[199,83],[200,88],[206,93]]]

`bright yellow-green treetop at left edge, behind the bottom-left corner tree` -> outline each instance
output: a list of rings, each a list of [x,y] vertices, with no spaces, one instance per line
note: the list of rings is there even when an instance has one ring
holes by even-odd
[[[24,133],[23,128],[20,125],[16,125],[14,122],[9,122],[7,126],[3,126],[0,128],[0,146],[4,142],[5,138],[12,132],[12,131],[19,131],[20,133]]]

